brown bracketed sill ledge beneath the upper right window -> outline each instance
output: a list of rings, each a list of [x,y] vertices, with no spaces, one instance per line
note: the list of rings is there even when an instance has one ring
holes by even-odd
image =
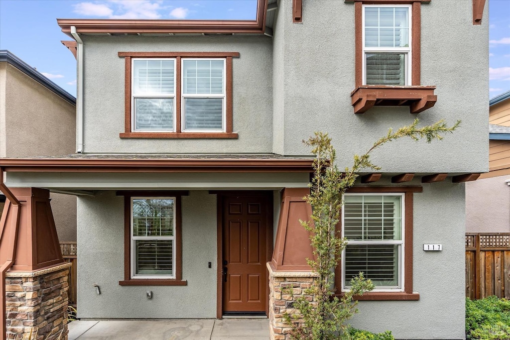
[[[438,96],[435,86],[363,85],[351,92],[354,113],[365,113],[374,106],[409,106],[411,113],[430,109]]]

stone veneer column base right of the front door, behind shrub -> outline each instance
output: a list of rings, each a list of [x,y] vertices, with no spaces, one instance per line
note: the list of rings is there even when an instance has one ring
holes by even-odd
[[[270,263],[269,270],[269,334],[271,340],[290,339],[290,325],[283,323],[283,313],[296,313],[293,307],[295,298],[305,297],[313,301],[312,296],[305,295],[304,290],[310,288],[317,274],[313,272],[278,272],[274,271]],[[292,286],[294,299],[289,294],[282,293],[282,289]]]

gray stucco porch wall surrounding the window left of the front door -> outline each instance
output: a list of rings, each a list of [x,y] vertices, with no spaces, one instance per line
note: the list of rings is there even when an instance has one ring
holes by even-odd
[[[113,191],[78,198],[78,308],[90,318],[215,318],[216,195],[182,198],[183,280],[186,286],[121,286],[124,202]],[[212,268],[208,268],[208,262]],[[99,285],[97,295],[94,284]],[[146,292],[153,298],[147,299]]]

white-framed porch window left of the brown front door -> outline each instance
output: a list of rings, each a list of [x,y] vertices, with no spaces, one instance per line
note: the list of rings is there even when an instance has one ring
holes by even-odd
[[[175,197],[131,197],[131,278],[175,278]]]

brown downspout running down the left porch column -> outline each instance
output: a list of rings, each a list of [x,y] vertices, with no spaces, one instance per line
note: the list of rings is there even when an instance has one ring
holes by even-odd
[[[7,337],[7,326],[6,326],[6,305],[5,305],[5,293],[6,293],[6,287],[5,287],[5,279],[6,279],[6,273],[9,270],[9,268],[12,267],[14,264],[14,261],[16,259],[16,245],[18,242],[18,227],[19,227],[19,213],[20,213],[20,207],[21,203],[18,201],[18,199],[13,195],[13,193],[9,190],[9,188],[6,187],[4,184],[4,169],[0,167],[0,191],[4,193],[4,195],[9,200],[10,204],[14,206],[14,215],[16,216],[16,219],[14,220],[14,228],[11,228],[11,234],[9,235],[9,254],[8,258],[5,261],[4,264],[2,264],[1,271],[2,271],[2,285],[0,286],[0,294],[2,295],[2,325],[0,326],[2,331],[2,338],[3,340],[6,340]],[[5,215],[5,216],[4,216]],[[0,235],[0,240],[7,237],[5,233],[6,225],[7,224],[7,210],[5,211],[5,214],[2,215],[2,219],[0,219],[0,228],[2,228],[2,234]]]

